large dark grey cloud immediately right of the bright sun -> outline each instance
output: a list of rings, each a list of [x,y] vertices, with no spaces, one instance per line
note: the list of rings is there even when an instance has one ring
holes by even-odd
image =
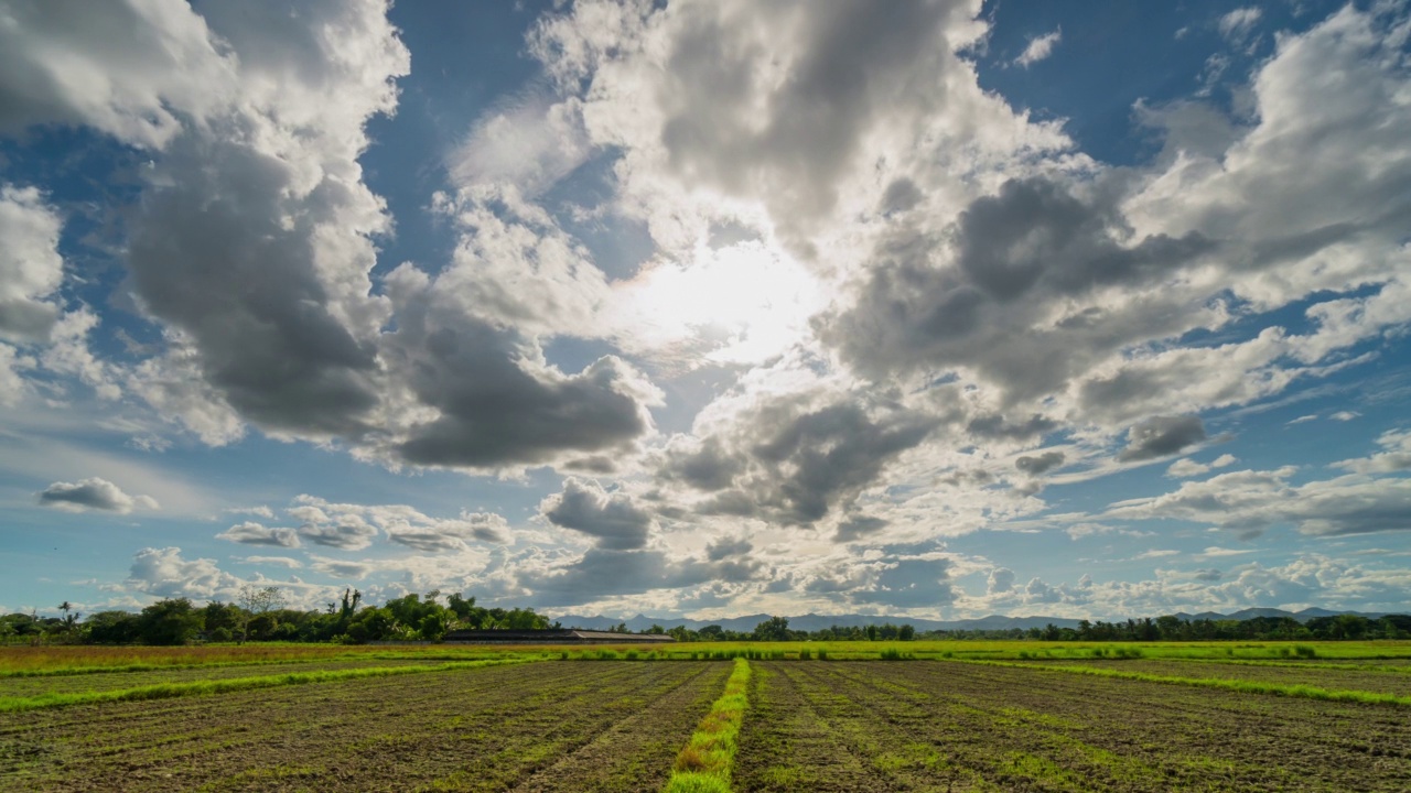
[[[976,199],[947,230],[899,224],[876,246],[856,303],[816,329],[876,380],[965,365],[1010,401],[1051,394],[1134,339],[1184,329],[1185,312],[1094,308],[1041,330],[1036,317],[1096,288],[1147,284],[1213,248],[1195,234],[1125,244],[1130,230],[1110,203],[1033,178]]]

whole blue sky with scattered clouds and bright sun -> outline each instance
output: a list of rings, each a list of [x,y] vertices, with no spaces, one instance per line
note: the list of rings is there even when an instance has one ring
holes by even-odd
[[[0,612],[1411,610],[1408,40],[0,0]]]

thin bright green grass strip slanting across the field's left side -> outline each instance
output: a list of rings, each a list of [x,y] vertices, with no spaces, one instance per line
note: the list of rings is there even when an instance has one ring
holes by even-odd
[[[168,700],[172,697],[200,697],[247,691],[251,689],[277,689],[279,686],[303,686],[306,683],[332,683],[334,680],[356,680],[358,677],[389,677],[392,674],[418,674],[425,672],[449,672],[452,669],[476,669],[525,663],[525,660],[467,660],[461,663],[437,663],[428,666],[373,666],[367,669],[333,669],[323,672],[291,672],[288,674],[264,674],[260,677],[231,677],[229,680],[193,680],[190,683],[158,683],[114,691],[78,691],[71,694],[41,694],[38,697],[0,697],[0,713],[20,713],[40,708],[86,706],[96,703],[130,703],[140,700]]]

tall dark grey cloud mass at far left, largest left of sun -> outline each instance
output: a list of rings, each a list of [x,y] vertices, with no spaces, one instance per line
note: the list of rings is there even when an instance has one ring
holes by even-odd
[[[144,192],[128,248],[143,305],[190,339],[205,377],[257,426],[360,436],[377,350],[336,316],[315,250],[346,189],[291,206],[292,164],[195,137],[164,162],[181,178]],[[370,267],[370,244],[365,255]]]

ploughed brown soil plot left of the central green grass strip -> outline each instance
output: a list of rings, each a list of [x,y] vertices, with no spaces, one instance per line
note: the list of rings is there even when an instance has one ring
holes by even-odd
[[[6,714],[0,789],[655,790],[728,672],[525,663]]]

